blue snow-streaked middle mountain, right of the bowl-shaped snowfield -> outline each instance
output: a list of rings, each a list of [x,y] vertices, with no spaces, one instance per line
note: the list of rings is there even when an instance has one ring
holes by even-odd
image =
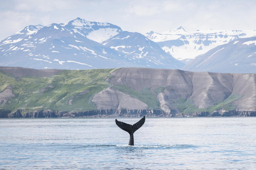
[[[174,68],[181,68],[183,65],[183,63],[178,62],[177,59],[164,52],[156,42],[139,33],[123,31],[101,43],[123,53],[127,60],[134,63],[139,62],[148,67],[151,67],[153,63],[158,65],[157,68],[164,68],[171,63],[175,63]]]

